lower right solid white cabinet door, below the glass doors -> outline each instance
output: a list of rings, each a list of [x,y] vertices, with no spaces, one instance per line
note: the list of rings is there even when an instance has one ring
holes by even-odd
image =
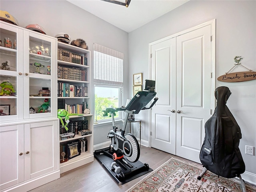
[[[56,121],[25,124],[25,152],[29,152],[25,154],[25,180],[54,170],[54,128],[56,127]]]

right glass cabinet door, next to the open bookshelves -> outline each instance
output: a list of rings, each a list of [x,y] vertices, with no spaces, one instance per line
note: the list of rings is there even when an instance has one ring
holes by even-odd
[[[56,39],[24,31],[24,118],[56,116]]]

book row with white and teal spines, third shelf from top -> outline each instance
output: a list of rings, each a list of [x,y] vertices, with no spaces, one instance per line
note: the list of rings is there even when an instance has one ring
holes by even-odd
[[[58,97],[88,97],[88,87],[58,82]]]

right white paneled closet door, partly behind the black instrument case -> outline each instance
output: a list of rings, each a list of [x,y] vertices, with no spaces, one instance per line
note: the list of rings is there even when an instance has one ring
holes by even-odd
[[[177,37],[176,155],[195,162],[210,118],[210,36],[208,25]]]

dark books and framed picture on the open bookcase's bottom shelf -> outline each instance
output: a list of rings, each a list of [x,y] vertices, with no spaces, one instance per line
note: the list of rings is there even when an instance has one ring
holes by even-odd
[[[88,141],[86,138],[60,143],[60,163],[66,162],[81,153],[87,151]]]

